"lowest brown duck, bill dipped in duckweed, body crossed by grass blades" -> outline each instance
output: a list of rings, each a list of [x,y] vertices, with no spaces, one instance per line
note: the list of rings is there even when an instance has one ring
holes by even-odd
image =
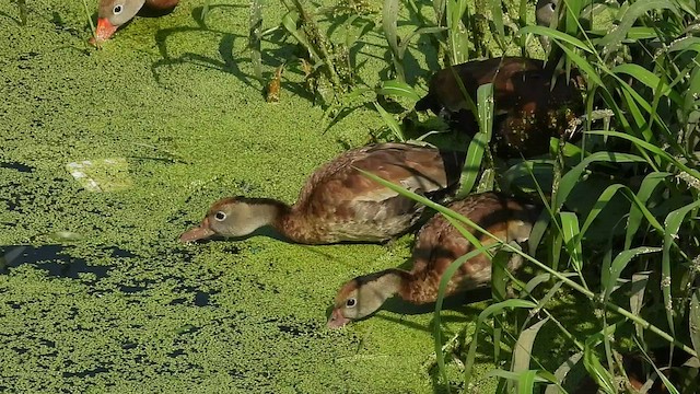
[[[537,205],[494,192],[469,195],[450,204],[447,208],[465,216],[502,242],[518,243],[527,241],[541,211]],[[485,246],[497,242],[475,229],[468,231]],[[445,217],[432,217],[418,233],[411,270],[389,268],[346,282],[337,292],[328,327],[340,328],[352,321],[368,317],[395,296],[418,305],[435,302],[440,280],[447,267],[474,248]],[[522,262],[518,257],[514,255],[511,258],[509,269],[517,269]],[[480,254],[459,267],[445,296],[486,287],[490,282],[491,262]]]

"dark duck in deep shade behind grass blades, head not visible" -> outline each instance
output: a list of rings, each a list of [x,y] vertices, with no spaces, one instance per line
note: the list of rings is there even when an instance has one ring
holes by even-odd
[[[526,57],[472,60],[438,71],[417,111],[432,111],[455,130],[474,136],[478,123],[456,81],[476,103],[477,89],[493,82],[494,119],[492,152],[508,160],[526,159],[549,151],[551,137],[565,136],[584,112],[583,79],[576,70],[565,72]],[[552,80],[555,80],[552,84]]]

